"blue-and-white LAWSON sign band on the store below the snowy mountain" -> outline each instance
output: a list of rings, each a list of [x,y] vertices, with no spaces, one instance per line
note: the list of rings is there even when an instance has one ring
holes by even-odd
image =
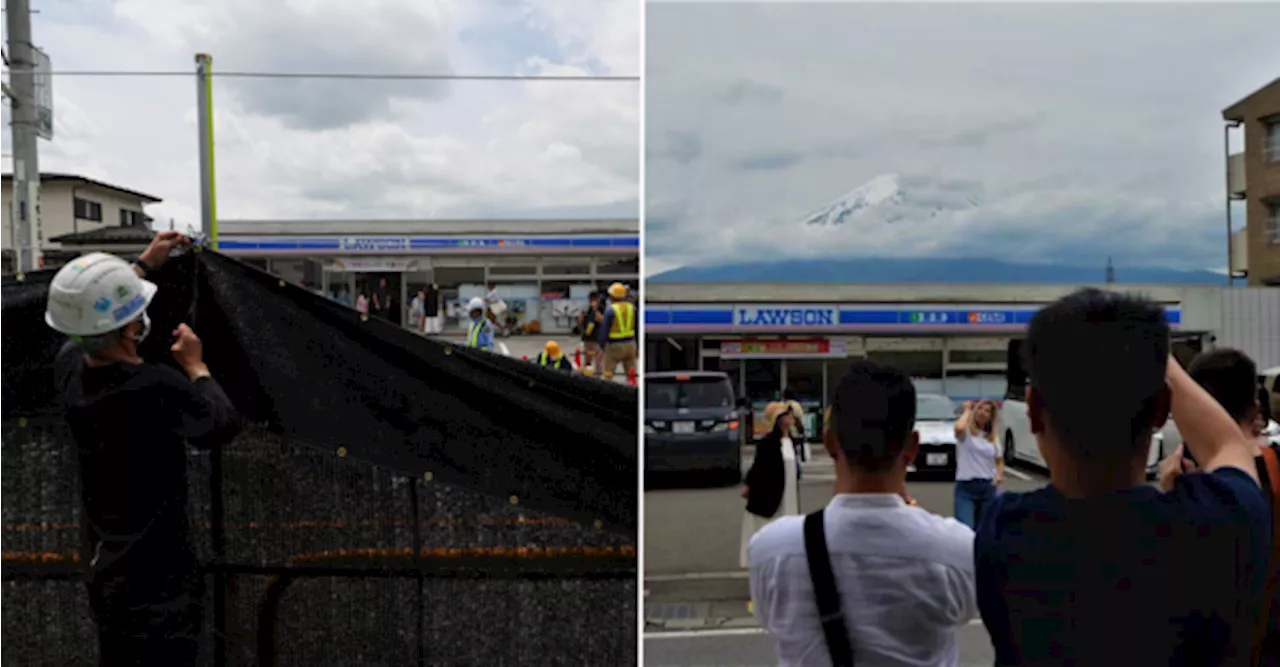
[[[721,332],[1020,332],[1041,306],[858,306],[858,305],[650,305],[644,325],[654,333]],[[1166,306],[1169,324],[1181,307]]]

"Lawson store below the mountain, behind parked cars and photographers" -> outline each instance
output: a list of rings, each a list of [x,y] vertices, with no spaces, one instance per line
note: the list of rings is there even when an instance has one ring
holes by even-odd
[[[827,289],[788,287],[805,287],[810,293]],[[881,287],[883,291],[888,285]],[[705,285],[699,291],[689,284],[649,283],[644,312],[646,369],[724,371],[739,396],[756,410],[790,388],[809,412],[809,426],[814,429],[840,374],[859,357],[902,369],[920,393],[956,401],[1002,398],[1010,341],[1019,338],[1032,315],[1057,296],[1046,294],[1041,303],[908,302],[910,291],[896,294],[897,303],[687,301],[699,292],[707,300],[723,298],[717,294],[730,292],[727,288]],[[754,296],[750,292],[781,289],[744,285],[739,291]],[[934,298],[946,292],[973,296],[948,287],[919,292]],[[672,302],[672,297],[686,301]],[[1179,332],[1175,344],[1199,350],[1202,335],[1183,330],[1181,305],[1169,302],[1165,309]]]

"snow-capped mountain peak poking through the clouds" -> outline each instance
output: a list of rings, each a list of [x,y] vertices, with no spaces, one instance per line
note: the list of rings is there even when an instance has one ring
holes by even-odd
[[[982,196],[980,183],[883,174],[809,214],[804,224],[835,227],[852,221],[927,220],[943,211],[979,206]]]

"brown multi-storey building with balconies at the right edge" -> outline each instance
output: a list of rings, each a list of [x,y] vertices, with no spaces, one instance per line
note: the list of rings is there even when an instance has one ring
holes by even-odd
[[[1280,285],[1280,79],[1225,109],[1222,119],[1228,136],[1244,133],[1244,150],[1228,156],[1228,198],[1245,207],[1245,227],[1231,236],[1233,273],[1249,285]]]

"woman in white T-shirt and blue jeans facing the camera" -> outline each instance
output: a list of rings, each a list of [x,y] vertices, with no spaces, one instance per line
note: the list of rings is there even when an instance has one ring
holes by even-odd
[[[956,520],[975,529],[1005,481],[1005,458],[996,446],[1000,428],[993,401],[965,401],[956,420]]]

